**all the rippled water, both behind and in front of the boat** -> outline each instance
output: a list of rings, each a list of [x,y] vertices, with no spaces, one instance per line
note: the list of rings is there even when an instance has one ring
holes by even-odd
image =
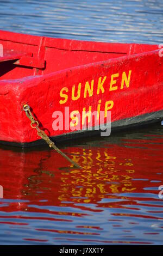
[[[97,41],[162,42],[160,1],[0,1],[0,28]],[[0,244],[163,244],[160,124],[59,145],[0,148]]]

